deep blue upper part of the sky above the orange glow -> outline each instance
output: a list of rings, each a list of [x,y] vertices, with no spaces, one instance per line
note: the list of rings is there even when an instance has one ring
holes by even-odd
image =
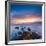
[[[13,3],[10,6],[12,17],[25,17],[26,15],[42,16],[42,5],[39,4],[18,4]]]

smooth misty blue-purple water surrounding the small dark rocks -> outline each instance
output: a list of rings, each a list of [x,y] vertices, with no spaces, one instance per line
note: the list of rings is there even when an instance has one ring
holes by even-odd
[[[15,27],[19,27],[19,30],[15,29]],[[38,35],[42,36],[42,23],[32,23],[30,25],[26,25],[26,24],[25,25],[11,25],[10,26],[10,39],[18,38],[19,37],[18,32],[23,33],[23,31],[21,30],[22,27],[25,27],[24,31],[26,32],[29,32],[27,30],[27,28],[29,27],[31,29],[30,32],[36,32]]]

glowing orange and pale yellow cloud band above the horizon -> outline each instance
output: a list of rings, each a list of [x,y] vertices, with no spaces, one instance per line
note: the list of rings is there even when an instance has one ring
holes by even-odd
[[[11,24],[22,24],[22,23],[33,23],[42,21],[41,17],[31,16],[31,17],[23,17],[23,18],[11,18]]]

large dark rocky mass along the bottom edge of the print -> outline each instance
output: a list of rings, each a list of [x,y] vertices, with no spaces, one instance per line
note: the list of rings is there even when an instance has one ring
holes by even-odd
[[[41,36],[39,36],[35,32],[23,32],[23,33],[19,32],[19,34],[21,35],[19,35],[18,37],[15,34],[16,36],[11,40],[30,40],[30,39],[40,39],[41,38]]]

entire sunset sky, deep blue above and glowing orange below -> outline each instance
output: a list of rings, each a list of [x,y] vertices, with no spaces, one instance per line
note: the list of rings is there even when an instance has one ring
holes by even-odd
[[[23,24],[42,21],[42,5],[39,4],[10,4],[11,24]]]

